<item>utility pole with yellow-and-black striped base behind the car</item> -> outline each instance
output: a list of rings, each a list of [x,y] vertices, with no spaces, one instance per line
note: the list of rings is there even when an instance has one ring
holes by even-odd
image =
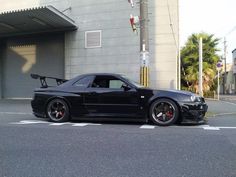
[[[148,0],[140,0],[140,83],[149,86]]]

